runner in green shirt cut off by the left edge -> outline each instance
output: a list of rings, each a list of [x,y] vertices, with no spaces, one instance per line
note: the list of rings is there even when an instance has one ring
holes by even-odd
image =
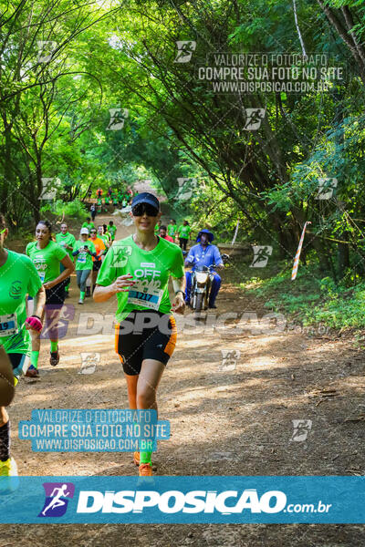
[[[17,475],[16,460],[10,457],[10,421],[5,405],[14,395],[17,378],[26,371],[31,353],[29,329],[42,330],[43,307],[46,301],[36,268],[25,254],[14,253],[4,248],[8,230],[5,218],[0,215],[0,375],[5,385],[0,402],[0,492],[16,486],[6,477]],[[26,318],[26,294],[34,298],[34,314]],[[7,356],[7,357],[6,357]],[[8,374],[10,370],[13,375]]]

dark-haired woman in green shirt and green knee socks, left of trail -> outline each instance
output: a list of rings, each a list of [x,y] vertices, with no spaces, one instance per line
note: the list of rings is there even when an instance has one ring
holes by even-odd
[[[75,270],[74,264],[65,249],[52,241],[52,224],[39,221],[36,225],[36,242],[26,245],[26,254],[36,266],[39,279],[46,289],[46,306],[41,316],[43,323],[46,314],[47,337],[51,343],[49,363],[56,366],[58,353],[58,318],[65,301],[65,280]],[[59,273],[60,263],[65,266]],[[38,377],[38,357],[40,350],[40,333],[33,335],[31,366],[26,376]]]

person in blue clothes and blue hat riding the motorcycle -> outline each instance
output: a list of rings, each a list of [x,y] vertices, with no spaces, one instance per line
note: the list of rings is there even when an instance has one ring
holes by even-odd
[[[214,268],[224,268],[224,263],[221,257],[221,253],[219,253],[218,247],[216,245],[212,245],[213,240],[214,235],[212,232],[209,232],[209,230],[201,230],[198,233],[198,237],[196,238],[198,244],[193,245],[193,247],[189,251],[185,260],[185,266],[193,265],[193,270],[195,270],[197,266],[201,267],[212,265],[214,265]],[[208,306],[210,308],[216,308],[216,305],[214,304],[215,298],[221,287],[222,279],[216,272],[212,271],[212,273],[214,274],[214,279],[212,281],[212,287],[209,294]],[[192,273],[185,272],[185,277],[185,302],[186,304],[190,304],[190,294],[192,291]]]

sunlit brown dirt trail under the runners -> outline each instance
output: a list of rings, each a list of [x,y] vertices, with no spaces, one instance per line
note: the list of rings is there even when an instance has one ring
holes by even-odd
[[[97,222],[110,218],[97,217]],[[118,226],[117,238],[128,232]],[[59,365],[49,366],[43,341],[40,380],[24,378],[17,387],[10,408],[13,455],[20,474],[26,475],[135,475],[129,453],[35,453],[29,441],[17,439],[18,421],[29,419],[32,408],[128,408],[107,316],[116,303],[77,302],[73,278],[66,304],[74,315],[59,344]],[[217,304],[219,314],[267,313],[226,279]],[[102,314],[94,316],[97,326],[104,321],[110,333],[78,334],[80,314]],[[234,349],[240,352],[235,366],[224,367],[222,351]],[[83,352],[100,354],[94,374],[78,374]],[[363,352],[351,341],[255,330],[189,334],[185,329],[159,388],[160,418],[171,420],[172,438],[159,443],[156,473],[363,475],[364,393]],[[290,440],[293,419],[311,420],[306,440]],[[346,421],[350,419],[355,421]],[[364,533],[360,525],[2,525],[0,537],[1,547],[114,547],[126,542],[143,547],[337,547],[363,543]]]

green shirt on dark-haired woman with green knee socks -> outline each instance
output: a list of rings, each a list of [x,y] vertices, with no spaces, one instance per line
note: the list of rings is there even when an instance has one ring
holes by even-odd
[[[26,245],[26,254],[36,266],[41,282],[48,283],[58,277],[59,263],[68,253],[52,240],[44,249],[37,249],[36,243],[32,242]]]

